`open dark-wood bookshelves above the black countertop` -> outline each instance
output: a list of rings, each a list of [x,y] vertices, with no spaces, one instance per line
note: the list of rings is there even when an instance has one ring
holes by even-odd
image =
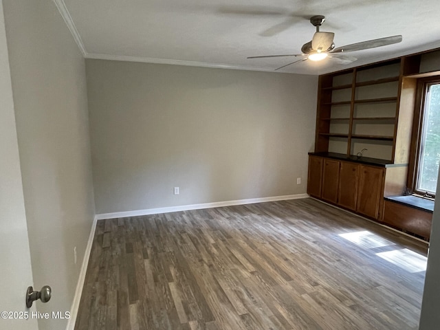
[[[406,76],[419,73],[420,56],[395,58],[320,76],[315,152],[356,155],[404,162],[399,122],[412,122]],[[406,75],[406,76],[405,76]],[[415,93],[415,86],[410,93]],[[407,135],[410,132],[407,132]]]

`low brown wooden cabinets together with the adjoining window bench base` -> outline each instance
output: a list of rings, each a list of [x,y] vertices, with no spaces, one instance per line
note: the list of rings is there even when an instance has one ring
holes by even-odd
[[[406,176],[405,168],[309,155],[307,192],[312,197],[429,239],[432,212],[391,202],[392,197],[384,200],[385,192],[402,193],[404,187],[396,184],[396,178]]]

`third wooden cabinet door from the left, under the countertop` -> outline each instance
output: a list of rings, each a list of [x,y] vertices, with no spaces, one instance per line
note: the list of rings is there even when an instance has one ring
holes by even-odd
[[[358,196],[359,164],[341,162],[339,170],[338,204],[356,210]]]

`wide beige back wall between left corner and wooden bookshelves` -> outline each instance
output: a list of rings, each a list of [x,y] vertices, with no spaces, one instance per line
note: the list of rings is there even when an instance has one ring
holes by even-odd
[[[316,76],[86,68],[98,214],[306,192]]]

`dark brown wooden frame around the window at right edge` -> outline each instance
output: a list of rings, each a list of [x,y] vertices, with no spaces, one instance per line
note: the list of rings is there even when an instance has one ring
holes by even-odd
[[[413,195],[419,195],[429,199],[434,199],[435,194],[431,194],[423,190],[417,190],[417,179],[419,176],[421,138],[423,137],[426,93],[430,85],[436,84],[440,84],[440,76],[420,78],[417,80],[415,111],[414,120],[412,122],[412,135],[410,144],[410,162],[408,164],[407,180],[407,186]]]

